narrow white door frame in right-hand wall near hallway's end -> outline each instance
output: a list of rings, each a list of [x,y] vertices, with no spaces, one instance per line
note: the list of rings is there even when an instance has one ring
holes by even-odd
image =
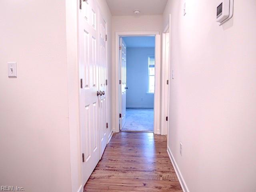
[[[169,30],[169,32],[168,32]],[[168,37],[167,37],[168,36]],[[168,62],[166,61],[166,38],[169,38],[169,45],[170,45],[170,24],[165,26],[163,34],[162,34],[162,98],[161,98],[161,134],[167,135],[168,125],[166,123],[166,116],[168,117],[168,121],[170,120],[169,117],[169,97],[170,97],[170,46],[168,52]],[[168,74],[166,74],[166,69],[168,69]],[[166,84],[168,80],[168,92],[166,94]],[[166,102],[168,100],[168,102]],[[168,114],[165,114],[165,106],[168,106]]]

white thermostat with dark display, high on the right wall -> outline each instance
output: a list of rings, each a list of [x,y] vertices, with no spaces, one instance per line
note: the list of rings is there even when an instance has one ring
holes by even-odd
[[[223,24],[233,16],[234,0],[220,0],[217,6],[217,22]]]

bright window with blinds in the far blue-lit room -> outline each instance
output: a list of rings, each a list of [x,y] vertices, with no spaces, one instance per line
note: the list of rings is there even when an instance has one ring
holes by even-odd
[[[155,90],[155,56],[148,56],[148,93]]]

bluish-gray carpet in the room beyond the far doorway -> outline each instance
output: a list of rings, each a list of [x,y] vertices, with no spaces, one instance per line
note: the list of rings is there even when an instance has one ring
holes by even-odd
[[[126,108],[123,131],[154,131],[154,109]]]

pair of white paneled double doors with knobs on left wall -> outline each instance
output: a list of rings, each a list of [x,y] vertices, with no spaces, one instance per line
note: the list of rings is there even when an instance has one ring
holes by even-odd
[[[85,183],[96,167],[106,147],[100,142],[106,134],[106,94],[97,96],[100,88],[106,89],[106,49],[102,51],[99,20],[95,0],[81,1],[78,12],[79,71],[80,71],[80,136],[81,172]],[[106,30],[104,31],[106,33]],[[105,34],[104,34],[105,36]],[[106,43],[106,42],[105,42]]]

